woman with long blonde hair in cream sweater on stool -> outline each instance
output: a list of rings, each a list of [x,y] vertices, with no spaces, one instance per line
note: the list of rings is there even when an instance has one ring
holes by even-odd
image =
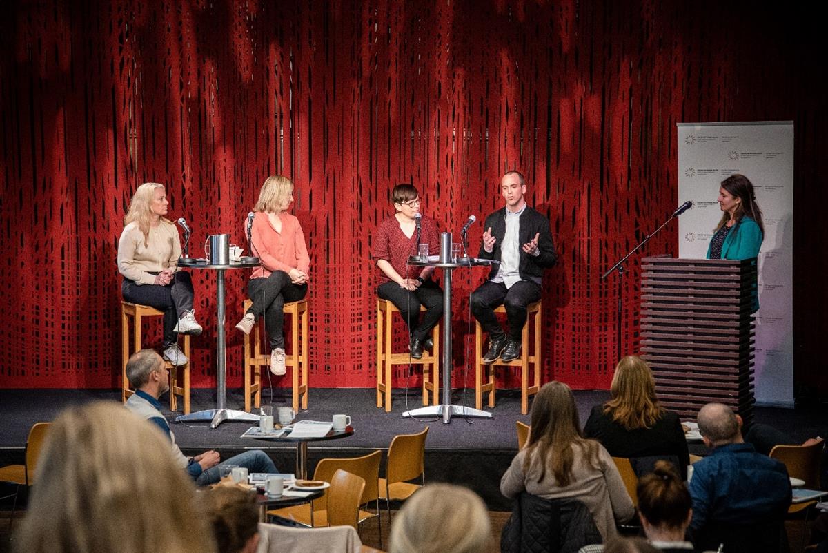
[[[166,219],[169,204],[164,185],[138,186],[118,240],[118,272],[124,300],[164,312],[164,358],[185,365],[176,334],[201,334],[201,325],[195,320],[190,274],[178,271],[181,243],[178,228]]]

